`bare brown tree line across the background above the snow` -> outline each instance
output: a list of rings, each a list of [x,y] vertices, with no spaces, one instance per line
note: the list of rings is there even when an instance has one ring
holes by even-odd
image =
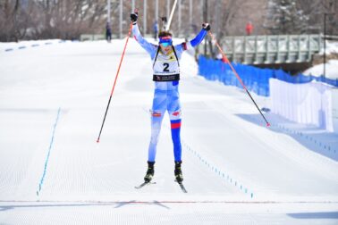
[[[167,1],[158,0],[159,15],[165,15]],[[119,31],[120,0],[111,0],[113,34]],[[130,22],[131,1],[123,2],[123,34]],[[327,13],[327,33],[338,34],[337,0],[181,0],[182,17],[177,9],[173,16],[172,31],[177,36],[196,32],[203,21],[212,24],[218,38],[245,35],[245,24],[254,26],[253,35],[300,34],[323,32],[324,14]],[[80,34],[104,34],[106,29],[107,0],[0,0],[0,41],[21,39],[77,39]],[[144,0],[135,0],[139,8],[139,24],[143,33],[152,32],[155,18],[155,0],[148,0],[147,18],[142,16]],[[191,15],[192,12],[192,15]],[[192,17],[192,20],[191,18]],[[142,20],[148,27],[141,26]],[[178,20],[181,20],[180,27]],[[191,24],[190,24],[190,21]]]

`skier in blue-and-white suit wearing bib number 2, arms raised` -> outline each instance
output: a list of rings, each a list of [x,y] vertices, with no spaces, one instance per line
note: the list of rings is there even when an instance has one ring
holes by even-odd
[[[153,81],[155,81],[155,92],[151,110],[151,138],[148,147],[148,170],[144,178],[145,183],[150,182],[154,176],[154,164],[156,158],[156,145],[160,133],[161,124],[168,111],[172,129],[174,176],[178,183],[182,184],[183,176],[182,146],[181,146],[181,104],[179,95],[180,60],[183,51],[198,46],[210,30],[208,23],[202,24],[202,29],[197,37],[189,42],[173,46],[172,34],[161,31],[158,34],[159,45],[148,43],[139,33],[138,12],[131,13],[133,24],[132,33],[134,38],[148,54],[153,62]]]

